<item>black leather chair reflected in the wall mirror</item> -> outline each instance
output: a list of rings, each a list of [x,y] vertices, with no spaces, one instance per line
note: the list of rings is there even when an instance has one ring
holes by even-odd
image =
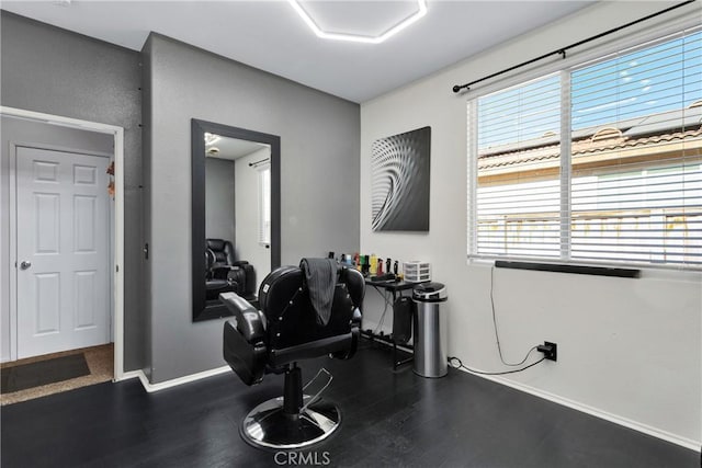
[[[237,293],[251,300],[256,298],[256,272],[246,260],[235,260],[234,246],[224,239],[207,239],[207,276],[205,297],[217,300],[222,293]]]

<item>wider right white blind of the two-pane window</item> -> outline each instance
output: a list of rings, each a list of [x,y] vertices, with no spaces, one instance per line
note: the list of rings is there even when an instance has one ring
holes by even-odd
[[[571,255],[702,262],[701,33],[571,73]]]

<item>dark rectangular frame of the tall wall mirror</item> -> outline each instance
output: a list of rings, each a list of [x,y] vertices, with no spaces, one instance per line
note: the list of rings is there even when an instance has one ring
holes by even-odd
[[[207,306],[205,274],[205,132],[223,137],[256,141],[271,147],[271,271],[281,264],[281,137],[193,118],[192,139],[192,292],[193,321],[229,317],[224,305]],[[197,270],[202,274],[197,274]],[[265,276],[269,272],[257,272]]]

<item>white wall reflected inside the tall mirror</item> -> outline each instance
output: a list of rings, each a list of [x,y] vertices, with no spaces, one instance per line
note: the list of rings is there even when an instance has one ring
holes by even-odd
[[[271,272],[271,249],[259,243],[259,185],[258,171],[249,168],[249,162],[271,157],[271,148],[261,148],[235,161],[236,187],[236,251],[241,260],[248,261],[256,271],[256,292],[267,274]]]

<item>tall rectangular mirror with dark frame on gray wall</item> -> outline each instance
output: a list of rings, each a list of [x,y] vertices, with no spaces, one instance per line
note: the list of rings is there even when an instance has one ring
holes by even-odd
[[[219,294],[256,303],[281,263],[280,137],[192,119],[193,321],[226,317]]]

